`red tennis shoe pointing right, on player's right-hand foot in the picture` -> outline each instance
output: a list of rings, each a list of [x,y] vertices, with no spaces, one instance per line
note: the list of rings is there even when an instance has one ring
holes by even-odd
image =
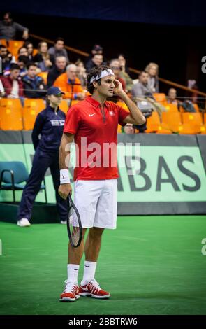
[[[89,281],[85,286],[80,286],[79,295],[91,296],[99,299],[110,297],[110,293],[103,290],[95,279]]]

